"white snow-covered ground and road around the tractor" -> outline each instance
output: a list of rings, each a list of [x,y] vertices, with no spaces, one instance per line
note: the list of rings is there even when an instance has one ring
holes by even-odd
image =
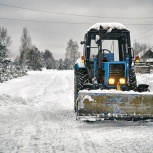
[[[153,75],[137,75],[150,84]],[[0,153],[152,153],[153,123],[75,120],[73,71],[44,70],[0,84]]]

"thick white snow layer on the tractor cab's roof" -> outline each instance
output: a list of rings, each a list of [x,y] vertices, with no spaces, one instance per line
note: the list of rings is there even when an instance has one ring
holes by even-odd
[[[88,31],[90,31],[91,29],[99,30],[100,27],[104,30],[107,30],[109,28],[111,28],[111,29],[126,29],[126,27],[122,23],[108,22],[108,23],[96,23],[93,26],[91,26],[88,29]]]

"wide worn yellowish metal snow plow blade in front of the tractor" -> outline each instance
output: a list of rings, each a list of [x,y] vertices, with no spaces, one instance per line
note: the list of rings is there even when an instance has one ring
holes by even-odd
[[[79,92],[76,119],[147,120],[153,118],[153,94],[149,92]]]

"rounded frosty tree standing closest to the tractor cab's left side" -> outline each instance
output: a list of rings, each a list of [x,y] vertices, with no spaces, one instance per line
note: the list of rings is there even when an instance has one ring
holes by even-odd
[[[65,58],[69,61],[70,68],[73,68],[76,60],[80,57],[80,52],[78,51],[79,46],[76,41],[70,39],[67,43]]]

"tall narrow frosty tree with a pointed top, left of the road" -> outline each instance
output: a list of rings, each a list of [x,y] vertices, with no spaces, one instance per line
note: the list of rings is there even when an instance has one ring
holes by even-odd
[[[32,45],[31,36],[27,28],[24,27],[21,36],[20,58],[19,58],[19,62],[21,65],[26,65],[27,52],[30,50],[31,45]]]

